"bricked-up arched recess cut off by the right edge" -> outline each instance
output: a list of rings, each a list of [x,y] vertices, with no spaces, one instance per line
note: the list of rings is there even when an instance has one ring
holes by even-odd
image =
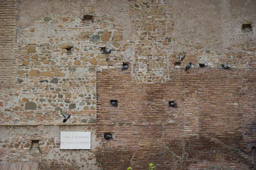
[[[251,152],[256,146],[256,100],[253,93],[248,93],[239,99],[239,106],[242,108],[243,139],[246,143],[246,152]]]

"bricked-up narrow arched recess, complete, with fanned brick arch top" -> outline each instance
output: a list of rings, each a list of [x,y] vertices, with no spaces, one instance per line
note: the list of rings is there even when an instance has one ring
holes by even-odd
[[[199,113],[203,110],[204,101],[196,93],[186,93],[181,101],[184,105],[184,136],[199,137]]]

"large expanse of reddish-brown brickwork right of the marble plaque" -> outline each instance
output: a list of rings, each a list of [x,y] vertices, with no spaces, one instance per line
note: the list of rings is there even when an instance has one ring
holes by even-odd
[[[159,169],[253,168],[255,98],[243,95],[255,88],[255,70],[171,70],[172,81],[155,84],[133,83],[131,75],[97,72],[97,158],[103,169],[146,169],[148,162]],[[110,100],[118,100],[118,107]],[[105,140],[104,132],[115,132],[115,139]]]

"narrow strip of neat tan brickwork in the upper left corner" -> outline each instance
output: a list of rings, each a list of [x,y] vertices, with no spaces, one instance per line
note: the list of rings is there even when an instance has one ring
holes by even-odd
[[[0,86],[17,82],[16,32],[18,1],[0,1]]]

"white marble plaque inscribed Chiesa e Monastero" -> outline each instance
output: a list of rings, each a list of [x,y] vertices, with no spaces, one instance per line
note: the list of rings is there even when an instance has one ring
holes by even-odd
[[[91,132],[61,132],[61,150],[91,149]]]

